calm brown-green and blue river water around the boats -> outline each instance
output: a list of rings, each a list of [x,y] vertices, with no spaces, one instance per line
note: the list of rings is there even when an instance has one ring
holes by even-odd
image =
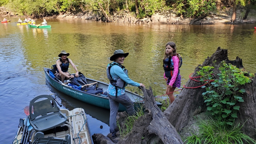
[[[2,20],[4,17],[0,17]],[[24,107],[38,95],[55,93],[62,108],[82,107],[91,133],[109,133],[109,110],[80,102],[53,88],[45,79],[43,67],[51,67],[61,50],[86,77],[108,83],[106,65],[114,50],[129,52],[124,66],[129,77],[152,87],[155,95],[165,94],[163,55],[165,44],[174,41],[183,58],[182,85],[195,67],[211,56],[218,46],[228,49],[230,60],[242,58],[243,66],[256,73],[255,24],[241,25],[161,25],[104,23],[81,19],[46,19],[52,28],[17,26],[18,18],[7,17],[0,24],[0,141],[12,143]],[[40,24],[42,19],[36,19]],[[69,70],[75,73],[74,69]],[[136,87],[127,89],[138,91]],[[176,92],[178,94],[179,92]],[[103,129],[100,129],[100,125]]]

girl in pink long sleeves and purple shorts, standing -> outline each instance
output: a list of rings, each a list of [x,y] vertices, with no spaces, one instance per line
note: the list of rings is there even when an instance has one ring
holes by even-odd
[[[173,91],[176,87],[180,87],[181,76],[179,74],[179,65],[181,65],[181,56],[176,52],[176,44],[168,42],[165,45],[164,54],[164,78],[166,79],[166,94],[169,96],[170,102],[174,101]]]

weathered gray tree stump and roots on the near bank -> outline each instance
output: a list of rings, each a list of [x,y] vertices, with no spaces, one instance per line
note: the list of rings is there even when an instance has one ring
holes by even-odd
[[[217,73],[222,61],[232,64],[239,69],[243,68],[242,59],[237,57],[235,60],[229,60],[228,50],[218,47],[211,57],[206,58],[202,65],[196,67],[191,77],[198,76],[197,71],[200,70],[199,67],[201,66],[214,66],[215,69],[213,71]],[[254,102],[256,99],[256,78],[254,77],[251,80],[251,83],[239,86],[239,89],[244,89],[245,92],[238,94],[244,101],[237,103],[240,109],[235,123],[243,124],[241,128],[243,134],[256,139],[256,105]],[[190,127],[195,122],[193,120],[194,116],[201,114],[207,109],[205,100],[202,97],[202,93],[206,89],[200,87],[202,83],[189,79],[186,85],[197,88],[182,89],[179,96],[164,112],[157,107],[152,89],[142,88],[147,109],[144,116],[139,117],[134,122],[131,132],[121,139],[112,139],[111,135],[105,137],[99,133],[94,134],[92,136],[94,143],[183,143],[180,141],[181,137],[187,137],[190,134],[185,132],[184,129]],[[118,121],[119,124],[121,122],[121,127],[123,127],[122,119],[118,119]]]

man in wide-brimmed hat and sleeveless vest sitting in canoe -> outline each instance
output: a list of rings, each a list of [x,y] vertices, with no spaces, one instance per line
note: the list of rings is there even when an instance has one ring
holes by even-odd
[[[75,64],[72,62],[70,58],[67,58],[69,56],[69,53],[67,53],[65,50],[62,50],[60,54],[58,55],[60,58],[56,61],[56,67],[57,71],[55,77],[64,83],[65,79],[73,78],[74,75],[70,75],[68,72],[69,63],[71,66],[76,70],[75,76],[78,77],[78,70]]]

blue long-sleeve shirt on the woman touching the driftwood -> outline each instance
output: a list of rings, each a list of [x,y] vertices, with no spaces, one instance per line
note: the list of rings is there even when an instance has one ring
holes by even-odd
[[[115,63],[115,62],[113,62]],[[118,64],[118,63],[116,63]],[[119,65],[119,64],[118,64]],[[124,73],[124,70],[118,66],[118,65],[113,65],[111,68],[110,68],[110,74],[112,76],[112,78],[114,80],[117,80],[119,77],[126,82],[126,84],[129,84],[129,85],[132,85],[132,86],[136,86],[136,87],[139,87],[140,84],[139,83],[136,83],[135,81],[131,80],[129,77],[128,77],[128,74],[126,75]],[[125,88],[120,88],[118,87],[118,90],[117,90],[117,96],[121,96],[123,95],[125,92]],[[115,96],[115,93],[116,93],[116,90],[115,90],[115,86],[111,85],[109,83],[109,87],[107,89],[107,93],[112,95],[112,96]]]

